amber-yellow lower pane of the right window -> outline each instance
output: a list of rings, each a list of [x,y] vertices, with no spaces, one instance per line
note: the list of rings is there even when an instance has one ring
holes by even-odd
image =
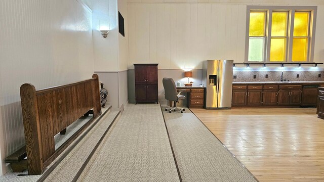
[[[292,61],[307,61],[308,38],[293,38]]]

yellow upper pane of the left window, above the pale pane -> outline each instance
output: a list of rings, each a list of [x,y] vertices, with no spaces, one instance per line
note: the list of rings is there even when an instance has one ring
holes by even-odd
[[[250,12],[249,36],[265,36],[266,12]]]

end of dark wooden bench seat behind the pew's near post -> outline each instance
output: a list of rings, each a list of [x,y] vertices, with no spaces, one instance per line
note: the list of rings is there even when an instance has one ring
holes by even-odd
[[[5,159],[5,162],[10,163],[13,172],[22,172],[27,167],[27,152],[26,146],[20,148],[17,152],[11,154]]]

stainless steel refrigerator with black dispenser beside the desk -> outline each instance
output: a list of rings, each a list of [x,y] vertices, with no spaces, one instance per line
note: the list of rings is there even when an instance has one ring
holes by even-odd
[[[206,109],[231,108],[233,60],[203,61],[203,84],[206,85]]]

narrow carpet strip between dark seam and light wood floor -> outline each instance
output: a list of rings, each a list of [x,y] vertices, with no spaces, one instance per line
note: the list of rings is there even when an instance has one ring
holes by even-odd
[[[187,108],[162,107],[182,181],[257,181]]]

